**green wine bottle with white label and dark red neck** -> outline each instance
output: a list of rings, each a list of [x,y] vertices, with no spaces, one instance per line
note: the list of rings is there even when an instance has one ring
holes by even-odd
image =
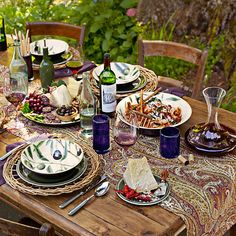
[[[101,113],[113,117],[116,109],[116,75],[111,70],[109,53],[104,55],[104,69],[99,77]]]

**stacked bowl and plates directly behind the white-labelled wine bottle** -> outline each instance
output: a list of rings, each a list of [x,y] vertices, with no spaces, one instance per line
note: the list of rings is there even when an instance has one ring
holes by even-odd
[[[99,76],[103,68],[104,65],[102,64],[93,70],[93,78],[97,83],[99,82]],[[147,80],[144,77],[140,77],[140,71],[135,65],[111,62],[111,69],[116,75],[118,94],[138,91],[147,84]]]

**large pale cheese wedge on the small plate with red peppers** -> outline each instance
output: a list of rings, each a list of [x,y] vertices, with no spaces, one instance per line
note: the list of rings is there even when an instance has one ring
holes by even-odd
[[[124,173],[125,183],[136,192],[150,192],[158,187],[147,158],[129,159]]]

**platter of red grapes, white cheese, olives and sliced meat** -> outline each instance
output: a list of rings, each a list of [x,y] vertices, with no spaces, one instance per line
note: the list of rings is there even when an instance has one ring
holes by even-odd
[[[21,113],[34,122],[46,125],[69,125],[78,123],[79,100],[78,85],[66,84],[63,81],[52,84],[48,91],[34,91],[26,97]],[[77,89],[76,89],[77,88]]]

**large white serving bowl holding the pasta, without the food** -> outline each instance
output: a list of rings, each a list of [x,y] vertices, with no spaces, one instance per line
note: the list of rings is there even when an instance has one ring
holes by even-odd
[[[147,98],[148,96],[151,96],[153,94],[153,92],[145,92],[143,94],[143,99]],[[191,117],[191,114],[192,114],[192,108],[191,106],[182,98],[178,97],[178,96],[175,96],[173,94],[169,94],[169,93],[163,93],[163,92],[159,92],[158,94],[152,96],[151,98],[152,100],[160,100],[161,103],[163,105],[166,105],[166,106],[171,106],[173,108],[179,108],[180,111],[181,111],[181,120],[175,124],[171,124],[171,125],[166,125],[166,126],[179,126],[183,123],[185,123],[190,117]],[[151,100],[150,99],[150,100]],[[128,103],[131,103],[131,104],[139,104],[139,100],[140,100],[140,93],[135,93],[135,94],[132,94],[130,96],[127,96],[125,98],[123,98],[117,105],[116,107],[116,112],[122,114],[123,116],[123,119],[126,123],[129,123],[127,121],[127,118],[125,117],[125,114],[126,114],[126,107],[127,107],[127,104]],[[149,103],[149,102],[147,102]],[[158,109],[158,108],[156,108]],[[152,114],[151,114],[152,115]],[[147,135],[156,135],[157,133],[159,133],[159,130],[162,129],[163,125],[160,125],[158,127],[145,127],[145,126],[142,126],[140,125],[139,126],[139,129],[141,131],[144,131],[144,133],[146,133]],[[158,132],[155,132],[155,131],[158,131]]]

